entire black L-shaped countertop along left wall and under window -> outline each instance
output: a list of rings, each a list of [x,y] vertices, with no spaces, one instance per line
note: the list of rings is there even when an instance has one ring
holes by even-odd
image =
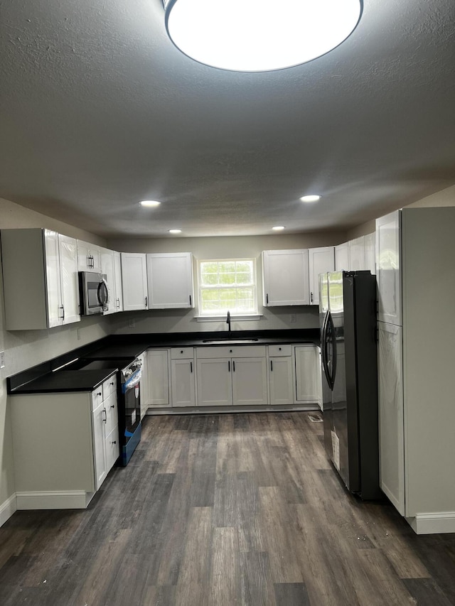
[[[111,335],[8,377],[7,391],[9,394],[92,391],[117,369],[123,368],[127,359],[132,361],[152,347],[223,347],[223,345],[242,347],[287,343],[319,345],[319,329],[239,330],[231,332],[230,340],[225,340],[227,336],[225,331]],[[245,341],[245,339],[255,339],[255,341]],[[232,342],[233,340],[235,342]],[[78,369],[76,363],[73,364],[73,369],[70,369],[69,363],[77,359],[112,360],[112,368],[84,370]],[[64,364],[68,364],[68,367],[60,369]]]

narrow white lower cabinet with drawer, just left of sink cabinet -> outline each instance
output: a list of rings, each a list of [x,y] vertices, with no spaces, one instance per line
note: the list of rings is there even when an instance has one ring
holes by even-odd
[[[172,406],[196,406],[196,364],[193,347],[171,350]]]

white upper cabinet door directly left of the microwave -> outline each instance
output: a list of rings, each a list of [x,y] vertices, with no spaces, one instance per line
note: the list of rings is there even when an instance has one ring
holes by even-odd
[[[60,293],[63,306],[62,324],[79,322],[79,280],[77,277],[77,244],[74,238],[58,234]]]

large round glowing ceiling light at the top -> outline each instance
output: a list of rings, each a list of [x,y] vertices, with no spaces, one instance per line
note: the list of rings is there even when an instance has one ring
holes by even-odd
[[[320,57],[357,26],[363,0],[163,0],[169,38],[212,67],[267,72]]]

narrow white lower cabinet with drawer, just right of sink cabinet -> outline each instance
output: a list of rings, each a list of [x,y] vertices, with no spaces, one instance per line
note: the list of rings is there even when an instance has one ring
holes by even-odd
[[[270,404],[293,404],[291,345],[269,345]]]

